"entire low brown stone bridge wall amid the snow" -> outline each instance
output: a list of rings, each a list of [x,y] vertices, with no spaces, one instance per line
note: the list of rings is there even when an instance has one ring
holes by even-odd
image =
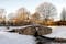
[[[28,26],[24,29],[12,30],[11,32],[16,32],[19,34],[25,35],[35,35],[35,33],[37,32],[37,35],[46,35],[52,33],[52,29],[45,26]]]

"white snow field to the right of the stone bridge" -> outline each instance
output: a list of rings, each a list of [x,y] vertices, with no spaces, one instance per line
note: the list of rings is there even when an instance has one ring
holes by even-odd
[[[66,26],[48,26],[48,28],[52,28],[53,32],[44,36],[55,38],[66,38]]]

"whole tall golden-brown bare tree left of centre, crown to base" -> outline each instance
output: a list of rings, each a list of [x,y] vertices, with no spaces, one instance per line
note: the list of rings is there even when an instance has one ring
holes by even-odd
[[[30,22],[29,20],[30,12],[25,8],[20,8],[16,11],[16,15],[18,15],[18,25],[24,25]]]

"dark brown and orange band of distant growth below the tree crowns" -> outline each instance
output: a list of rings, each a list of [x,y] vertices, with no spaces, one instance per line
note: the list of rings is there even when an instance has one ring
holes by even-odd
[[[66,25],[66,21],[43,21],[43,22],[33,22],[33,21],[22,21],[22,22],[18,22],[18,23],[13,23],[13,22],[1,22],[0,26],[22,26],[22,25],[30,25],[30,24],[41,24],[41,25],[46,25],[46,26],[54,26],[54,25]]]

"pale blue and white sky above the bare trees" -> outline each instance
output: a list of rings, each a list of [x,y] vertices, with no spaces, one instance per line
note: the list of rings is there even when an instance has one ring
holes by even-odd
[[[35,8],[43,2],[53,3],[58,12],[57,19],[59,19],[59,13],[66,4],[66,0],[0,0],[0,8],[6,9],[7,14],[15,12],[21,7],[26,8],[32,13],[35,12]]]

